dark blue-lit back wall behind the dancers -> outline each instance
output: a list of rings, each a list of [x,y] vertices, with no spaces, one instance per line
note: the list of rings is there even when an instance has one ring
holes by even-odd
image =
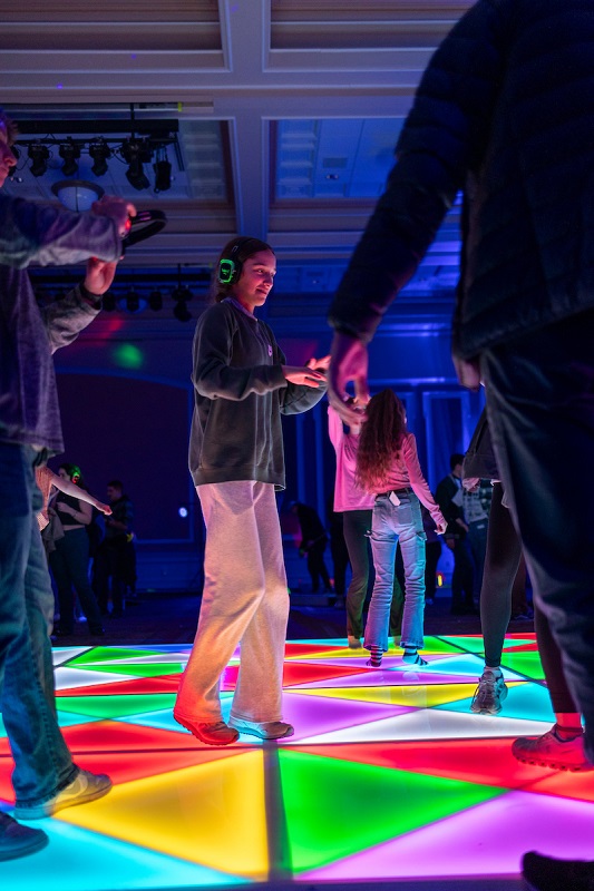
[[[274,330],[289,364],[330,347],[331,332],[319,325],[298,335],[291,320],[285,325],[274,320]],[[158,314],[104,313],[55,358],[66,452],[51,467],[61,460],[79,464],[100,499],[110,479],[123,480],[135,505],[147,587],[184,588],[188,579],[199,587],[203,523],[187,470],[193,334],[194,323]],[[373,392],[392,386],[406,402],[435,489],[449,470],[450,452],[466,449],[483,405],[480,395],[456,383],[447,325],[380,329],[370,346],[370,384]],[[279,497],[280,509],[301,500],[324,516],[334,482],[325,400],[304,415],[285,418],[283,430],[288,489]],[[187,508],[186,518],[179,508]]]

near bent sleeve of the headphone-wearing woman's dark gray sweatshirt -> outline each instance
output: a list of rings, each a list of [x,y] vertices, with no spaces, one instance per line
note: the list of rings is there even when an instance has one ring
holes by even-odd
[[[201,316],[194,336],[193,383],[208,399],[240,402],[251,393],[264,394],[286,386],[281,364],[234,366],[232,361],[234,322],[217,304]]]

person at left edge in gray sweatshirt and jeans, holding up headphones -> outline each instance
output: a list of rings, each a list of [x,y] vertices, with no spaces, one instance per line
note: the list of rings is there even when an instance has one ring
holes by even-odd
[[[16,164],[12,121],[0,109],[0,186]],[[133,205],[106,198],[92,213],[0,195],[0,708],[14,757],[17,819],[50,816],[105,795],[111,782],[80,770],[56,718],[48,616],[53,595],[36,515],[36,467],[64,450],[51,354],[97,315],[121,255]],[[87,274],[40,310],[29,263],[78,263]],[[0,860],[47,844],[41,830],[0,812]]]

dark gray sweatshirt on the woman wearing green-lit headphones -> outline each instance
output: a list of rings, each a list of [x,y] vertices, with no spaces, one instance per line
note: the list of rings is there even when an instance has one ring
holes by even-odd
[[[289,383],[272,330],[233,298],[210,306],[194,335],[194,417],[189,471],[196,486],[232,480],[284,489],[282,414],[299,414],[323,396]]]

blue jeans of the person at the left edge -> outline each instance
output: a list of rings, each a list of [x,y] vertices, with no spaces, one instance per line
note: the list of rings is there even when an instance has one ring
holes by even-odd
[[[53,594],[36,519],[36,452],[0,442],[0,708],[17,802],[42,804],[77,775],[56,718]]]

